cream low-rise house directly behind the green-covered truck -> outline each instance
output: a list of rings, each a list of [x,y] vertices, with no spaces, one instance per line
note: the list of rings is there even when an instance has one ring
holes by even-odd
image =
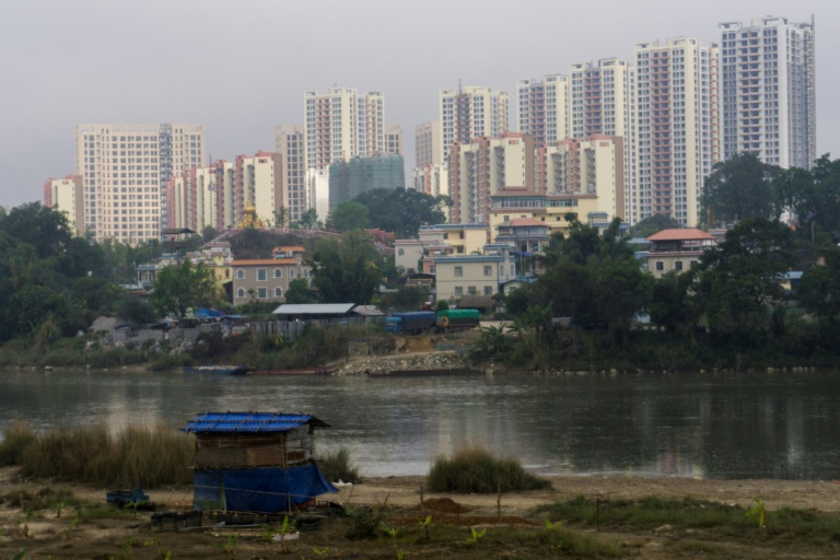
[[[493,295],[516,278],[516,259],[508,244],[487,244],[481,255],[434,257],[435,298],[457,301],[465,295]]]

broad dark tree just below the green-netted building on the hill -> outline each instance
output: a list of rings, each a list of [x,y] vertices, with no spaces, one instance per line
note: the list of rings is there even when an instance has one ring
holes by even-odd
[[[372,228],[394,232],[398,238],[417,236],[423,224],[443,223],[441,208],[452,203],[448,197],[405,188],[369,190],[353,201],[368,208]]]

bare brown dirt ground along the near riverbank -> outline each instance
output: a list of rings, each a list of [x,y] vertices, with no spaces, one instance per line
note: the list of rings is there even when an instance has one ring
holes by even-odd
[[[796,480],[695,480],[685,478],[639,477],[555,477],[552,488],[542,491],[497,495],[441,494],[421,490],[423,477],[371,478],[361,485],[342,487],[338,494],[325,499],[350,506],[396,506],[401,518],[413,520],[432,515],[438,524],[463,526],[463,537],[469,537],[469,526],[532,526],[538,530],[544,523],[534,512],[538,505],[568,500],[579,495],[603,499],[634,499],[643,497],[682,498],[718,501],[725,504],[751,505],[760,497],[772,512],[782,506],[840,513],[840,483],[836,481]],[[135,516],[121,512],[121,518],[102,517],[74,524],[78,516],[70,508],[61,517],[55,511],[43,510],[27,517],[27,508],[13,504],[22,492],[36,493],[47,485],[21,481],[15,469],[0,469],[0,560],[11,559],[21,550],[32,559],[269,559],[269,558],[397,558],[387,541],[357,541],[345,537],[348,522],[329,518],[315,532],[302,532],[288,546],[265,540],[259,527],[215,527],[195,532],[156,532],[149,525],[150,515]],[[72,487],[75,497],[92,503],[104,503],[105,490]],[[423,506],[420,506],[421,491]],[[191,489],[165,489],[148,492],[160,510],[188,510]],[[398,524],[398,522],[394,522]],[[592,529],[587,529],[592,533]],[[688,532],[687,532],[688,533]],[[688,546],[698,535],[676,533],[604,534],[599,537],[620,542],[627,558],[836,558],[835,548],[818,545],[784,552],[772,542],[743,542]],[[459,537],[460,538],[460,537]],[[284,550],[284,548],[288,549]],[[167,556],[168,555],[168,556]],[[546,557],[570,558],[562,552]],[[540,558],[527,550],[468,549],[463,539],[448,545],[406,546],[404,558]]]

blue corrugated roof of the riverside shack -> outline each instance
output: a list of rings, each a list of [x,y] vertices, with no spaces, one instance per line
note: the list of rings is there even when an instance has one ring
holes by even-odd
[[[282,412],[207,412],[189,422],[187,433],[257,433],[288,432],[301,425],[329,427],[311,415]]]

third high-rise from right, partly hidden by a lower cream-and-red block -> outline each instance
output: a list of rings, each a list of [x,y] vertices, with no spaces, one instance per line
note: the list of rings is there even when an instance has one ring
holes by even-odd
[[[618,136],[625,150],[625,201],[620,217],[638,221],[635,191],[634,71],[627,60],[606,58],[597,63],[572,65],[569,70],[570,138],[583,140],[593,135]]]

